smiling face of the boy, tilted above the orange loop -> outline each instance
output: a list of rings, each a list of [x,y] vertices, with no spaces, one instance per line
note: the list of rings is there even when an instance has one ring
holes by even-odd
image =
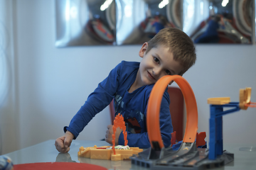
[[[142,57],[142,62],[139,64],[137,81],[141,86],[155,84],[157,80],[165,75],[181,73],[183,67],[174,60],[173,54],[168,47],[159,45],[146,52],[147,47],[148,43],[145,42],[139,51],[139,57]]]

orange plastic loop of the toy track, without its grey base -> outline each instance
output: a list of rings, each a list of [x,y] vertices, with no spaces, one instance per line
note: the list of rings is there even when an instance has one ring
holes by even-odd
[[[181,76],[164,76],[161,77],[154,85],[151,94],[149,96],[148,108],[147,108],[147,131],[149,135],[149,141],[151,147],[154,149],[161,149],[164,147],[164,143],[161,138],[160,125],[159,125],[159,112],[161,107],[161,100],[164,95],[166,87],[171,81],[175,81],[180,87],[186,103],[186,130],[183,137],[183,142],[195,142],[196,132],[198,130],[198,110],[196,105],[196,98],[193,94],[191,86],[188,81]]]

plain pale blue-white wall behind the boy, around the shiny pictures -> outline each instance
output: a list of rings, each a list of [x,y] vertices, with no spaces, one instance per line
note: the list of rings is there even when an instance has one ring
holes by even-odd
[[[55,48],[53,0],[14,0],[14,11],[17,103],[8,101],[1,114],[16,117],[0,120],[2,154],[63,135],[63,126],[110,69],[122,60],[140,61],[140,45]],[[208,135],[207,98],[230,96],[239,101],[239,89],[248,86],[256,102],[255,54],[255,45],[197,45],[196,65],[184,77],[198,102],[198,132]],[[255,108],[225,115],[224,142],[255,143],[255,120]],[[3,127],[6,121],[15,128],[11,134]],[[104,138],[108,124],[106,108],[78,140]]]

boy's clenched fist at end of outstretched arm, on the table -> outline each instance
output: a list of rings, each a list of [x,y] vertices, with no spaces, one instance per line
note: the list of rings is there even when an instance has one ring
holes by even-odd
[[[67,130],[67,132],[65,132],[65,135],[55,140],[55,147],[58,150],[58,152],[60,153],[68,152],[70,150],[70,145],[73,138],[74,138],[74,135]]]

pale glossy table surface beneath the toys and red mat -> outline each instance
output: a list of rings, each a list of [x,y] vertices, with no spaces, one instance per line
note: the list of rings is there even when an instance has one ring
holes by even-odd
[[[14,164],[27,164],[36,162],[80,162],[97,164],[104,166],[107,169],[146,169],[144,167],[131,164],[130,160],[113,162],[110,160],[78,157],[78,151],[80,147],[93,147],[94,145],[100,147],[109,145],[105,141],[73,140],[70,151],[66,154],[60,154],[55,149],[54,143],[55,140],[48,140],[38,145],[20,149],[6,155],[11,157]],[[241,151],[241,147],[256,147],[256,145],[224,144],[223,148],[228,152],[235,154],[235,159],[234,162],[222,166],[218,168],[218,170],[256,170],[256,151]]]

